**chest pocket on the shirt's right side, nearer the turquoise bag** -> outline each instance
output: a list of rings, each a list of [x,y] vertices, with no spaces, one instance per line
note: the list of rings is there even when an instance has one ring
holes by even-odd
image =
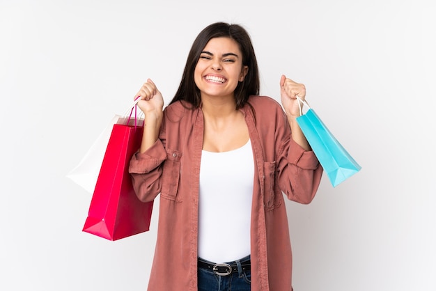
[[[265,210],[274,210],[283,203],[283,194],[276,184],[276,162],[263,163],[264,193],[265,193]]]

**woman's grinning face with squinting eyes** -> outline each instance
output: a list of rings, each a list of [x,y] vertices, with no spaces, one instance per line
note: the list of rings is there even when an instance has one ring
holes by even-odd
[[[233,97],[238,82],[244,81],[248,67],[242,65],[238,42],[212,38],[200,54],[194,81],[203,97]]]

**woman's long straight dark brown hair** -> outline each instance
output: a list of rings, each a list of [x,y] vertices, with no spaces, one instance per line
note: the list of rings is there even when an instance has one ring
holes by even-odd
[[[170,104],[178,100],[184,100],[192,104],[195,108],[200,107],[201,95],[194,81],[194,70],[200,58],[200,54],[203,52],[209,40],[221,37],[231,38],[235,40],[235,42],[238,42],[240,51],[242,52],[242,65],[248,66],[248,72],[244,81],[239,82],[238,86],[235,88],[236,109],[244,107],[250,95],[259,95],[260,81],[258,64],[249,33],[238,24],[216,22],[206,26],[194,40],[187,56],[180,86]]]

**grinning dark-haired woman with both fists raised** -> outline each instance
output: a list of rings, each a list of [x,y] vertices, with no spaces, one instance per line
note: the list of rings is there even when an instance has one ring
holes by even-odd
[[[219,22],[194,40],[168,107],[150,79],[135,95],[134,189],[143,201],[160,193],[148,290],[292,290],[282,191],[310,203],[322,167],[295,120],[304,85],[281,77],[283,112],[259,83],[247,31]]]

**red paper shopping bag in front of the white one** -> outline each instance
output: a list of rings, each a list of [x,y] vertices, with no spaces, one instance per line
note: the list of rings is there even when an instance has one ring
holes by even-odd
[[[128,173],[130,158],[141,145],[142,132],[143,127],[114,125],[84,232],[117,240],[149,230],[153,201],[143,203],[137,198]]]

